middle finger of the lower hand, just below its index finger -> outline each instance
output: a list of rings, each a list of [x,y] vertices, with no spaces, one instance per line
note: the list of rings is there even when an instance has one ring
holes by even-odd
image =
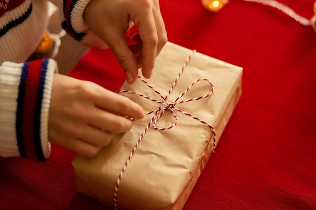
[[[98,128],[110,133],[126,132],[132,127],[132,121],[129,118],[118,116],[101,109],[96,108],[91,114],[89,124],[93,124]],[[100,136],[101,137],[101,136]]]

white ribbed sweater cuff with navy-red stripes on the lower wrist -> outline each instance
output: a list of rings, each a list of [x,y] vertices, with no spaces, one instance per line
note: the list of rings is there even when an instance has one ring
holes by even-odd
[[[0,155],[44,161],[50,155],[48,112],[57,64],[4,62],[0,68]]]

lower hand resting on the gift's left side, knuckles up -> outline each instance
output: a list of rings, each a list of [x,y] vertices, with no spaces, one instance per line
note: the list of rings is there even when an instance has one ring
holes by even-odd
[[[129,130],[143,109],[92,82],[54,75],[48,119],[49,142],[93,157],[114,133]]]

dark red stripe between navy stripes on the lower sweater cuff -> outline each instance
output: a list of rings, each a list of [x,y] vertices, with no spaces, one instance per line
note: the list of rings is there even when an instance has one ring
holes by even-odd
[[[30,62],[25,83],[22,133],[26,156],[32,160],[37,160],[34,148],[34,108],[41,66],[42,60]]]

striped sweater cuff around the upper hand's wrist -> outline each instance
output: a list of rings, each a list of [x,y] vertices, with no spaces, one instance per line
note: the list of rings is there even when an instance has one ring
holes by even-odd
[[[65,21],[62,23],[63,28],[74,39],[80,41],[88,30],[83,19],[83,12],[91,0],[68,0],[64,4]]]

